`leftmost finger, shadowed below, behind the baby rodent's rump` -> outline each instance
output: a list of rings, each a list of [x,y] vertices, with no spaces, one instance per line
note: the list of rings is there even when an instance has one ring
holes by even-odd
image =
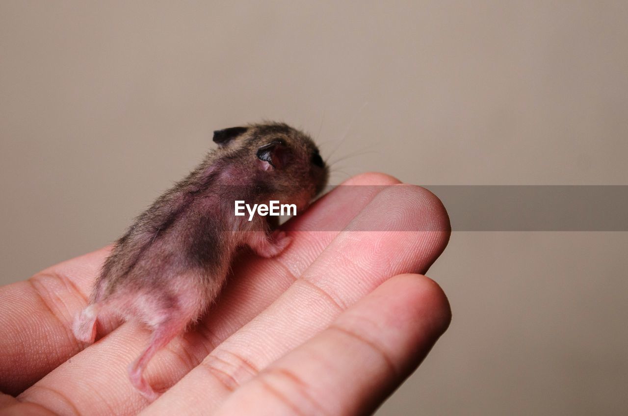
[[[0,390],[17,395],[82,348],[70,330],[109,248],[0,288]]]

